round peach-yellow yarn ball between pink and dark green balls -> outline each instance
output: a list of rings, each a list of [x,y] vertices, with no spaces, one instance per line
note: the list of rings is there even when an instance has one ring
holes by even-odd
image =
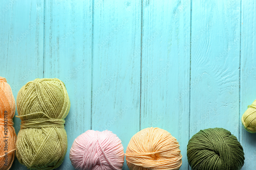
[[[130,170],[179,169],[182,155],[179,142],[166,130],[148,127],[136,133],[126,149]]]

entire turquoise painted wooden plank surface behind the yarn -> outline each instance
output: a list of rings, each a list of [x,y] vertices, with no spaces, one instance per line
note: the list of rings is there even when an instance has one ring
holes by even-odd
[[[255,3],[1,0],[0,76],[15,98],[35,78],[66,84],[68,152],[58,170],[73,169],[69,149],[88,129],[111,130],[126,150],[151,126],[177,138],[181,170],[191,169],[189,138],[214,127],[237,136],[242,169],[256,169],[256,134],[241,124],[256,99]],[[15,169],[27,168],[15,159]]]

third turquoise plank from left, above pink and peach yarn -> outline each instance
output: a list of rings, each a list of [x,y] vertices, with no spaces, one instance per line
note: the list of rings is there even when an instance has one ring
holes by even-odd
[[[92,129],[111,130],[125,151],[140,130],[141,2],[95,0],[93,25]]]

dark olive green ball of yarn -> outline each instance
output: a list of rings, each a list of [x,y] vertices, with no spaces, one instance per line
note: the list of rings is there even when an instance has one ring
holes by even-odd
[[[223,128],[200,130],[187,146],[192,170],[238,170],[244,164],[243,147],[234,135]]]

